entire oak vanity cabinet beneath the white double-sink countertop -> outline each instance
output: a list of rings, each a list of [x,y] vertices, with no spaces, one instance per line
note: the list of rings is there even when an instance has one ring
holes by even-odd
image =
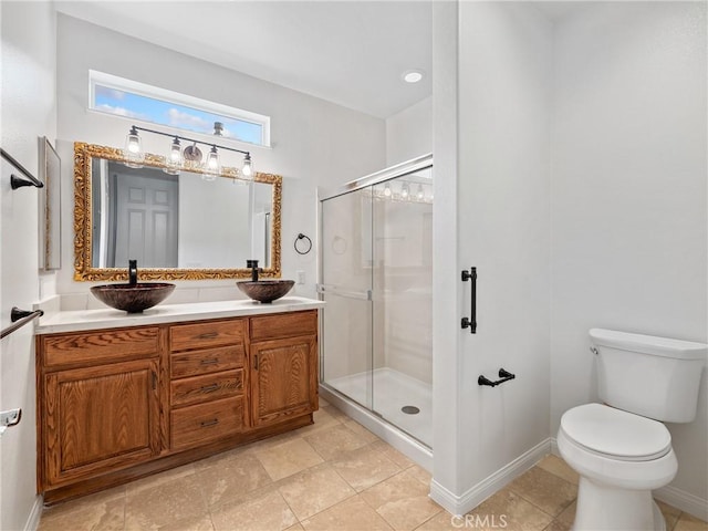
[[[312,424],[317,311],[39,335],[37,378],[51,504]]]

